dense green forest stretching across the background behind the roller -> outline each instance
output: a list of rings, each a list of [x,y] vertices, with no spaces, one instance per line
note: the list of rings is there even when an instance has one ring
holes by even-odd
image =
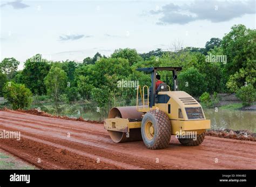
[[[139,54],[136,49],[116,49],[110,56],[96,53],[83,62],[48,61],[36,54],[24,62],[6,57],[0,63],[0,96],[12,109],[29,108],[32,96],[48,97],[58,109],[65,100],[92,100],[99,107],[116,105],[118,100],[133,104],[137,90],[118,86],[119,81],[150,85],[150,75],[136,71],[142,67],[182,67],[179,90],[201,100],[217,93],[235,93],[245,105],[256,98],[256,31],[234,25],[222,39],[211,38],[204,48],[173,44],[170,51],[156,49]],[[161,71],[161,80],[172,85],[170,71]]]

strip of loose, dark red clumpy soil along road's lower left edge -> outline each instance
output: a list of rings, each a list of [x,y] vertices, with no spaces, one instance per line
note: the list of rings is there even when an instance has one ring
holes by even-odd
[[[1,144],[0,148],[41,169],[122,169],[103,161],[96,163],[94,159],[42,143],[42,140],[27,138],[17,142],[5,139],[5,145]],[[38,163],[38,159],[41,163]]]

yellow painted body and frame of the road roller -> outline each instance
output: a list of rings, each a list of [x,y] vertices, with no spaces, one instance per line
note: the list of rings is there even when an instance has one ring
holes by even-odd
[[[205,119],[205,114],[201,105],[188,93],[184,91],[164,91],[159,92],[158,97],[159,96],[163,98],[160,101],[161,103],[159,103],[158,100],[158,103],[151,108],[149,105],[136,106],[133,107],[133,112],[136,110],[142,117],[143,113],[150,110],[160,110],[165,112],[170,119],[172,134],[175,135],[182,135],[184,132],[188,131],[200,134],[206,129],[211,128],[211,122],[210,120]],[[127,107],[117,107],[115,109],[120,108],[122,108],[124,112]],[[109,117],[111,116],[111,111]],[[190,111],[192,112],[190,113]],[[129,111],[127,111],[127,116],[129,116]],[[129,117],[113,117],[114,118],[105,119],[104,128],[106,130],[128,133],[131,128],[140,128],[142,123],[141,121],[129,121]]]

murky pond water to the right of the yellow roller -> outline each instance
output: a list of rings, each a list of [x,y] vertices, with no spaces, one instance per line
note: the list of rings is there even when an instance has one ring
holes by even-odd
[[[206,119],[211,119],[212,128],[250,130],[256,133],[256,111],[204,109]]]

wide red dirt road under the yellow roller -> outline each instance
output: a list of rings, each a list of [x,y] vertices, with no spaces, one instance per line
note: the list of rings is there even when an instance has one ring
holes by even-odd
[[[3,130],[20,131],[21,140],[0,139],[0,148],[41,169],[256,168],[253,141],[206,136],[200,146],[185,147],[172,136],[168,148],[150,150],[143,141],[112,142],[103,124],[15,111],[0,111]]]

